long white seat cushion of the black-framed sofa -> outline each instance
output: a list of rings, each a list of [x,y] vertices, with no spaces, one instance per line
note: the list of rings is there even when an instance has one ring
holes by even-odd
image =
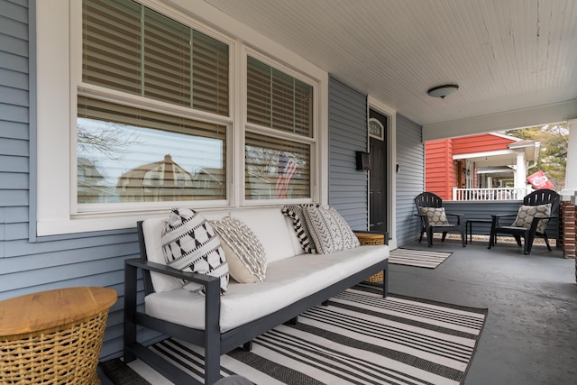
[[[228,292],[221,297],[221,332],[287,307],[298,299],[386,260],[388,256],[388,246],[375,245],[314,258],[310,254],[301,254],[269,263],[264,282],[252,285],[230,282]],[[153,293],[145,298],[146,313],[179,325],[204,329],[204,299],[184,289]]]

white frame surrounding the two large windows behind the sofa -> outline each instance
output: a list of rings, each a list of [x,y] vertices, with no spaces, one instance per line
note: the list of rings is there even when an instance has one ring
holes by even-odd
[[[326,203],[328,193],[327,159],[328,159],[328,74],[322,69],[302,60],[298,55],[285,50],[268,38],[253,32],[248,27],[234,21],[230,16],[215,10],[204,2],[190,4],[184,2],[192,11],[195,19],[183,12],[163,4],[159,0],[140,0],[143,5],[166,14],[167,16],[186,23],[200,32],[224,41],[231,47],[231,77],[230,77],[230,117],[223,118],[223,123],[229,127],[227,138],[227,201],[194,201],[183,204],[197,207],[234,207],[279,205],[287,200],[245,201],[244,200],[244,126],[245,95],[243,82],[246,82],[246,50],[245,42],[250,41],[252,47],[267,55],[263,58],[280,70],[289,70],[290,74],[298,74],[299,78],[315,83],[315,135],[316,145],[311,151],[311,199]],[[197,2],[192,2],[197,3]],[[37,205],[36,205],[36,235],[75,234],[92,231],[105,231],[123,228],[133,228],[137,220],[150,215],[164,215],[169,206],[150,206],[127,204],[122,210],[114,212],[78,213],[76,199],[76,100],[78,95],[78,79],[81,79],[81,2],[77,0],[50,0],[37,2]],[[192,12],[191,12],[192,14]],[[223,25],[226,31],[216,31],[206,24]],[[243,43],[241,43],[243,41]],[[257,50],[253,53],[256,54]],[[75,56],[76,55],[76,56]],[[76,60],[75,60],[76,59]],[[279,68],[279,63],[283,63]],[[304,75],[303,75],[304,74]],[[110,90],[101,92],[99,87],[83,87],[86,94],[105,97]],[[244,85],[245,86],[245,85]],[[134,96],[138,98],[139,96]],[[133,99],[128,97],[127,99]],[[130,103],[131,100],[125,100]],[[179,112],[178,106],[159,102],[157,108],[169,108]],[[196,117],[205,120],[202,113]],[[210,115],[214,121],[214,115]],[[234,126],[234,130],[231,127]],[[291,203],[296,200],[289,199]]]

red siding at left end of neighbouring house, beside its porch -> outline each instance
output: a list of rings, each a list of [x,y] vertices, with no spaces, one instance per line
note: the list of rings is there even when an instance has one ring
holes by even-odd
[[[425,144],[425,189],[444,200],[453,198],[456,186],[453,164],[453,140],[426,142]]]

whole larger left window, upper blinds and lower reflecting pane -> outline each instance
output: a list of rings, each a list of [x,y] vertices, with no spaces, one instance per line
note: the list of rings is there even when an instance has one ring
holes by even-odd
[[[105,96],[78,92],[80,210],[226,199],[227,126],[217,117],[229,115],[228,45],[131,0],[83,0],[82,17],[83,89]],[[157,101],[190,114],[151,111]],[[183,117],[197,112],[214,122]]]

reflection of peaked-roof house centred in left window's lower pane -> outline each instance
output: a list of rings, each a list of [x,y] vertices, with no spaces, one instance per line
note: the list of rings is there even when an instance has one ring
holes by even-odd
[[[204,194],[193,186],[192,174],[172,161],[170,155],[125,172],[116,188],[122,202],[189,200]]]

